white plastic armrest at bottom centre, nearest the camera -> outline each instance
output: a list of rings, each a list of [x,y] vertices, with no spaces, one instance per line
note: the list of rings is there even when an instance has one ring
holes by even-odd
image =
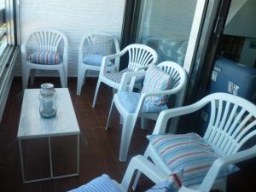
[[[125,191],[128,191],[133,173],[137,170],[143,172],[143,174],[151,179],[154,183],[160,183],[161,181],[169,178],[166,172],[163,172],[157,166],[154,166],[153,163],[142,155],[137,155],[131,159],[125,172],[125,176],[121,182],[121,186],[125,189]]]

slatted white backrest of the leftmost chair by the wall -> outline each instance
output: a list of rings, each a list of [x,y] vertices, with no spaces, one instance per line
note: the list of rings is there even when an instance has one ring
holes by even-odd
[[[32,32],[29,38],[34,38],[39,50],[57,51],[61,40],[64,41],[64,49],[67,49],[67,37],[64,33],[52,29],[40,29]]]

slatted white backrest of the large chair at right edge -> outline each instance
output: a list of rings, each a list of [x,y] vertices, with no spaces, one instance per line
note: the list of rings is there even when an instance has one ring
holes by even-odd
[[[218,154],[235,154],[256,136],[256,106],[253,103],[227,93],[215,93],[204,99],[211,103],[204,138]]]

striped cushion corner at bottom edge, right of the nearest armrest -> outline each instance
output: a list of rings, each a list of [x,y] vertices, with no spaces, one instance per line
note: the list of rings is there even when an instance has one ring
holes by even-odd
[[[177,192],[182,186],[183,172],[177,172],[170,175],[170,178],[161,183],[156,183],[146,192]]]

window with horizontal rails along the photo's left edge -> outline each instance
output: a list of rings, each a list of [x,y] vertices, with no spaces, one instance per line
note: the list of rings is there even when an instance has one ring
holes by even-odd
[[[19,0],[0,0],[0,119],[13,78],[18,46],[16,15]]]

